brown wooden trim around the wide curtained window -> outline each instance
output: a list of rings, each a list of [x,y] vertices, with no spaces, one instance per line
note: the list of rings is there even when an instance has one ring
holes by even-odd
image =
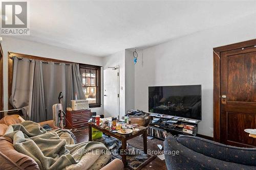
[[[52,58],[46,58],[46,57],[38,57],[38,56],[32,56],[32,55],[27,55],[27,54],[20,54],[20,53],[14,53],[14,52],[8,52],[8,99],[10,99],[10,95],[12,92],[12,73],[13,73],[13,57],[18,57],[18,58],[27,58],[27,59],[34,59],[34,60],[41,60],[41,61],[46,61],[46,62],[63,62],[63,63],[76,63],[76,62],[72,62],[72,61],[66,61],[66,60],[58,60],[58,59],[52,59]],[[101,92],[101,75],[100,75],[100,69],[101,66],[96,66],[96,65],[90,65],[90,64],[82,64],[82,63],[76,63],[83,66],[86,65],[87,67],[98,67],[99,68],[99,93]],[[90,108],[93,107],[101,107],[101,96],[99,94],[99,104],[94,104],[94,105],[90,105]],[[8,109],[13,109],[12,105],[8,102]]]

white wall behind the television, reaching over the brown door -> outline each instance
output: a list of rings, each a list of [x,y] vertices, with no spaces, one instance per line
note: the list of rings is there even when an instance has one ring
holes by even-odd
[[[202,85],[200,134],[213,136],[212,48],[256,38],[256,17],[146,48],[135,65],[135,108],[148,110],[148,86]]]

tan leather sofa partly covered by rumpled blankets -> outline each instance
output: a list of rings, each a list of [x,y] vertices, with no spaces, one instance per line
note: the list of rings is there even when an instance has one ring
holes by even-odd
[[[19,124],[25,121],[19,115],[5,116],[0,120],[0,169],[39,169],[35,160],[31,157],[18,153],[12,143],[12,139],[4,137],[5,131],[9,125]],[[40,126],[49,125],[52,128],[54,126],[53,120],[39,123]],[[101,170],[119,170],[123,169],[123,163],[119,159],[114,159],[109,164],[105,165]]]

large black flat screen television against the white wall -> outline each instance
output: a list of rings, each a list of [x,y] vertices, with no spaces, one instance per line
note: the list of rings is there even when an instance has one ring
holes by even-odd
[[[201,85],[150,86],[148,111],[202,120]]]

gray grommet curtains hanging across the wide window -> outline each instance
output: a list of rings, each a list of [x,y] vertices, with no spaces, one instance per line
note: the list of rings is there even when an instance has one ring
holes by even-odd
[[[23,62],[25,60],[27,59]],[[71,107],[70,101],[75,99],[75,93],[77,99],[86,98],[82,90],[78,64],[45,63],[39,60],[27,61],[24,64],[21,61],[14,57],[15,71],[10,102],[15,108],[23,108],[25,119],[34,122],[51,120],[52,106],[58,103],[60,91],[63,94],[64,111]],[[29,78],[25,75],[29,75]],[[20,89],[20,85],[24,88]]]

